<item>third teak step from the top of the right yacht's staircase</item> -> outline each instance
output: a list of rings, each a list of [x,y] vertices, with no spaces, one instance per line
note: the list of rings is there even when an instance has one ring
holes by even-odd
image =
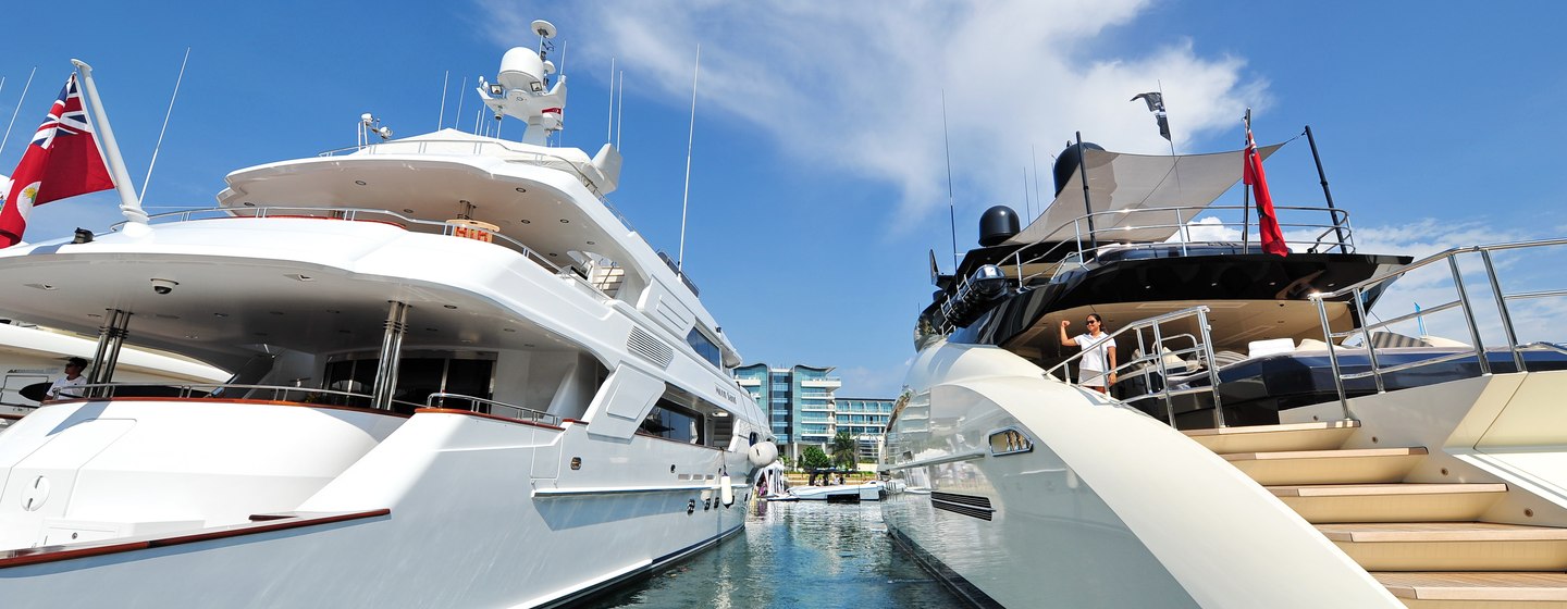
[[[1330,484],[1268,487],[1305,521],[1429,523],[1473,521],[1498,498],[1506,484]]]

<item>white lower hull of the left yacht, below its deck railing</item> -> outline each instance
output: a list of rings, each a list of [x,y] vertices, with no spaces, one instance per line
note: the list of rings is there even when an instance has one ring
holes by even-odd
[[[75,409],[66,412],[71,405]],[[17,479],[28,477],[24,470],[36,456],[19,454],[19,437],[30,432],[42,437],[47,432],[42,427],[58,424],[56,420],[89,413],[100,421],[143,416],[144,421],[111,445],[136,449],[155,440],[152,431],[163,418],[160,409],[179,405],[77,402],[49,407],[11,429],[13,437],[0,446],[8,451],[0,459],[13,468],[13,487],[25,482]],[[735,476],[740,481],[735,501],[730,506],[719,501],[719,474],[726,468],[746,471],[744,454],[650,437],[599,440],[575,423],[558,429],[467,413],[420,412],[362,456],[349,459],[353,456],[340,454],[343,441],[313,443],[310,437],[335,426],[337,435],[359,434],[370,443],[379,434],[373,418],[396,416],[291,405],[227,409],[251,410],[226,416],[249,416],[252,424],[248,434],[229,440],[262,437],[284,449],[262,456],[270,459],[193,467],[208,470],[204,477],[208,492],[212,487],[232,488],[232,493],[210,496],[235,496],[232,507],[255,506],[240,496],[243,490],[280,477],[287,484],[276,484],[268,496],[287,501],[290,493],[307,495],[291,512],[362,517],[180,540],[223,526],[252,526],[249,518],[230,510],[230,521],[219,518],[191,531],[118,537],[108,542],[107,551],[86,542],[77,543],[77,556],[56,560],[17,564],[25,562],[25,556],[13,557],[0,560],[5,603],[89,607],[113,598],[111,604],[124,607],[548,606],[718,543],[741,529],[749,501],[744,476]],[[343,413],[359,426],[342,431]],[[188,420],[188,415],[168,413],[168,421]],[[270,427],[268,421],[295,427],[293,434]],[[201,459],[185,451],[182,446],[177,454],[147,452],[144,462]],[[257,456],[252,449],[230,452]],[[572,456],[592,457],[572,468]],[[312,479],[329,474],[335,468],[332,463],[346,467],[317,482],[312,492]],[[88,499],[92,481],[102,484],[114,471],[88,460],[75,476],[77,493]],[[122,520],[135,518],[138,510],[157,507],[161,496],[188,490],[190,481],[191,476],[144,481],[147,493],[141,504],[122,501],[116,510]],[[41,512],[64,509],[67,498],[44,503]],[[219,507],[208,506],[208,512],[223,514]],[[364,515],[378,509],[389,512]],[[11,506],[5,512],[11,524],[6,529],[17,529],[16,520],[36,514],[19,514]],[[114,514],[92,518],[102,526],[114,520]],[[92,518],[53,518],[36,531],[60,535],[72,523],[89,531],[92,524],[85,520]],[[146,548],[114,550],[138,539],[155,542]],[[49,543],[58,542],[50,539]],[[96,551],[103,553],[94,556]],[[85,587],[116,592],[111,596],[83,595]]]

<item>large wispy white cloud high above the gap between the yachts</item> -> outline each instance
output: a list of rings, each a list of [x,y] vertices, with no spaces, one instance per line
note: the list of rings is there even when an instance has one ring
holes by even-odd
[[[500,16],[492,38],[528,41],[527,3],[480,0]],[[1199,56],[1189,39],[1103,49],[1144,0],[1003,2],[617,2],[570,3],[575,75],[603,78],[619,58],[628,81],[669,105],[689,100],[702,44],[700,105],[771,133],[818,169],[895,185],[899,229],[945,205],[942,95],[959,199],[1009,202],[1037,147],[1048,155],[1075,130],[1127,152],[1166,142],[1131,95],[1163,86],[1177,147],[1233,128],[1266,103],[1244,61]],[[581,31],[588,28],[589,31]],[[583,67],[583,66],[588,67]],[[1048,180],[1048,175],[1045,175]]]

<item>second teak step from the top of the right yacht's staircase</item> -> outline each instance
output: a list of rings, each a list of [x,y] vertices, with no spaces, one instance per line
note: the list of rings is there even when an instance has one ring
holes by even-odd
[[[1224,454],[1261,485],[1398,482],[1426,457],[1421,446]]]

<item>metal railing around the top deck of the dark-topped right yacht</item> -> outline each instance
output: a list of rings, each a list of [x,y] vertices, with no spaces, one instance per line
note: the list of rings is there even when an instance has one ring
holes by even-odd
[[[1224,213],[1243,214],[1239,219],[1224,219]],[[1044,252],[1030,252],[1023,258],[1026,247],[1004,263],[1015,268],[1017,285],[1023,286],[1030,280],[1048,274],[1048,280],[1056,280],[1075,268],[1087,268],[1098,258],[1113,252],[1127,250],[1167,250],[1171,255],[1191,255],[1192,247],[1225,246],[1235,254],[1260,254],[1261,246],[1249,238],[1249,229],[1255,221],[1244,218],[1250,211],[1246,205],[1205,205],[1205,207],[1153,207],[1141,210],[1095,211],[1062,224],[1056,232],[1045,235],[1036,243],[1055,243]],[[1299,207],[1277,205],[1274,211],[1279,227],[1285,233],[1285,244],[1296,252],[1329,252],[1337,249],[1341,254],[1354,254],[1354,227],[1349,225],[1349,211],[1330,207]],[[1329,216],[1329,224],[1308,219],[1308,214]],[[1191,218],[1188,221],[1188,218]],[[1200,224],[1194,224],[1197,221]],[[1218,222],[1207,222],[1218,219]],[[1106,227],[1111,225],[1111,227]],[[1127,243],[1128,230],[1155,230],[1172,233],[1166,241]],[[1194,232],[1233,232],[1239,243],[1233,240],[1197,240]],[[1315,233],[1315,236],[1313,236]],[[1302,238],[1305,235],[1305,238]],[[1023,266],[1036,263],[1053,263],[1047,271],[1023,274]],[[1000,263],[998,263],[1000,265]]]

